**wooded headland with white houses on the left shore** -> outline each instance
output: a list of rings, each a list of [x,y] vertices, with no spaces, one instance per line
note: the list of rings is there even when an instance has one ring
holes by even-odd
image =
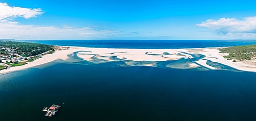
[[[0,41],[0,70],[25,65],[56,50],[68,50],[59,47],[28,42]]]

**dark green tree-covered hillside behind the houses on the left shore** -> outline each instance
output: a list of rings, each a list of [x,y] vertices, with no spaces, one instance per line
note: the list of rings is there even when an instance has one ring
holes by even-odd
[[[54,50],[53,45],[16,41],[0,41],[0,47],[9,47],[10,51],[14,50],[15,53],[23,57],[36,56]],[[8,55],[8,53],[10,52],[6,49],[0,49],[0,55]]]

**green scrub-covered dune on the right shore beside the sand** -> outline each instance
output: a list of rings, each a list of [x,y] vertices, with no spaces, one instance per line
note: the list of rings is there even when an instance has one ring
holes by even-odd
[[[232,46],[219,50],[221,51],[220,53],[229,53],[229,55],[223,57],[227,58],[227,60],[233,60],[233,62],[256,59],[256,44]]]

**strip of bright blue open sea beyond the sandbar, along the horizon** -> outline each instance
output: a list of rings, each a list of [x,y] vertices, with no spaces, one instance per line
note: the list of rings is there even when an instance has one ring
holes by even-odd
[[[20,41],[20,40],[19,40]],[[256,40],[23,40],[61,46],[120,49],[189,49],[256,44]]]

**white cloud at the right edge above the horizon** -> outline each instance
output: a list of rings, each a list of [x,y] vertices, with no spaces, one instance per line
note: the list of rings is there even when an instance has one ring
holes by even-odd
[[[216,34],[239,35],[246,38],[256,37],[256,16],[245,17],[243,20],[237,18],[208,19],[198,23],[197,26],[207,28]]]

